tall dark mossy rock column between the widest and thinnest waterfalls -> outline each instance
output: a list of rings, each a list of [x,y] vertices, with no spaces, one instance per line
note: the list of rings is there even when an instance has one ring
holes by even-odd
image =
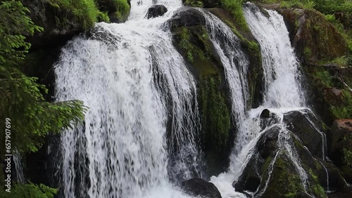
[[[202,124],[201,146],[211,175],[226,171],[233,142],[230,89],[215,47],[209,39],[203,15],[182,8],[169,21],[173,44],[196,79]],[[195,16],[185,20],[189,14]]]

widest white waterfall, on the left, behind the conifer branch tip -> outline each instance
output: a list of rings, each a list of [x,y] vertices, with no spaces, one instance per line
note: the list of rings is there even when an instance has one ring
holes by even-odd
[[[63,197],[186,197],[170,178],[199,176],[196,86],[163,25],[182,2],[163,2],[168,13],[149,20],[151,0],[131,4],[130,20],[97,24],[56,64],[57,100],[89,107],[61,137]]]

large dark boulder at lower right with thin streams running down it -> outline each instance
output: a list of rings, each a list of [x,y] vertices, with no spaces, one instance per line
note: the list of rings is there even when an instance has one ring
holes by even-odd
[[[256,143],[241,176],[232,184],[235,190],[257,192],[254,197],[260,194],[263,194],[260,197],[324,197],[323,187],[327,189],[328,173],[329,189],[346,191],[348,187],[337,167],[322,156],[320,121],[308,110],[287,112],[282,121],[284,124],[275,123],[265,129],[267,131]],[[300,194],[303,185],[287,152],[288,147],[293,148],[292,156],[298,157],[294,159],[299,161],[308,176],[308,194]],[[267,182],[268,187],[265,188]]]

